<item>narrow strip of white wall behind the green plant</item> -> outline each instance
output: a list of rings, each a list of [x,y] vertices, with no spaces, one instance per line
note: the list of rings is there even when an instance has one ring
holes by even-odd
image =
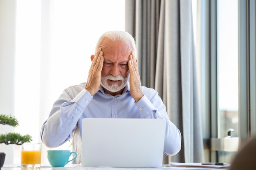
[[[14,60],[16,0],[0,0],[0,114],[14,115]],[[0,125],[0,134],[13,132],[9,125]],[[6,154],[5,164],[13,163],[14,146],[0,144]]]

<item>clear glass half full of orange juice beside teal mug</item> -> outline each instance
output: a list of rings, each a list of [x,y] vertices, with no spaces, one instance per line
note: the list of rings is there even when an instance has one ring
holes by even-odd
[[[42,143],[21,145],[21,169],[40,169]]]

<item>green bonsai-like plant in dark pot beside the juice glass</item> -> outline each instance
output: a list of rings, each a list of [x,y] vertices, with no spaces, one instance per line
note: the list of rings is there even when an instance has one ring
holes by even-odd
[[[17,127],[19,125],[18,120],[16,118],[8,116],[8,115],[0,115],[0,124],[9,125],[12,127]],[[9,144],[22,145],[25,142],[31,142],[31,140],[32,139],[31,139],[30,135],[22,136],[16,132],[0,134],[0,144],[4,143],[6,145],[9,145]],[[0,152],[0,170],[4,164],[4,159],[5,159],[5,153]]]

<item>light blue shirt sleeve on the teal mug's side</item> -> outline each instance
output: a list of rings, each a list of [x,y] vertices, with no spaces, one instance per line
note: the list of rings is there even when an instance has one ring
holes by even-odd
[[[63,91],[54,103],[49,118],[41,128],[41,140],[43,143],[52,148],[61,146],[68,141],[77,126],[77,121],[81,117],[83,110],[85,110],[92,98],[85,89],[73,99],[67,90]]]

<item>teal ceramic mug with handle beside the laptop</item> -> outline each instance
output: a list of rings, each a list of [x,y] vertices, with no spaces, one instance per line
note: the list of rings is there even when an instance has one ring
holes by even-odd
[[[69,160],[72,154],[75,157]],[[75,160],[76,157],[77,153],[70,152],[70,150],[47,150],[47,159],[52,167],[64,167],[70,161]]]

